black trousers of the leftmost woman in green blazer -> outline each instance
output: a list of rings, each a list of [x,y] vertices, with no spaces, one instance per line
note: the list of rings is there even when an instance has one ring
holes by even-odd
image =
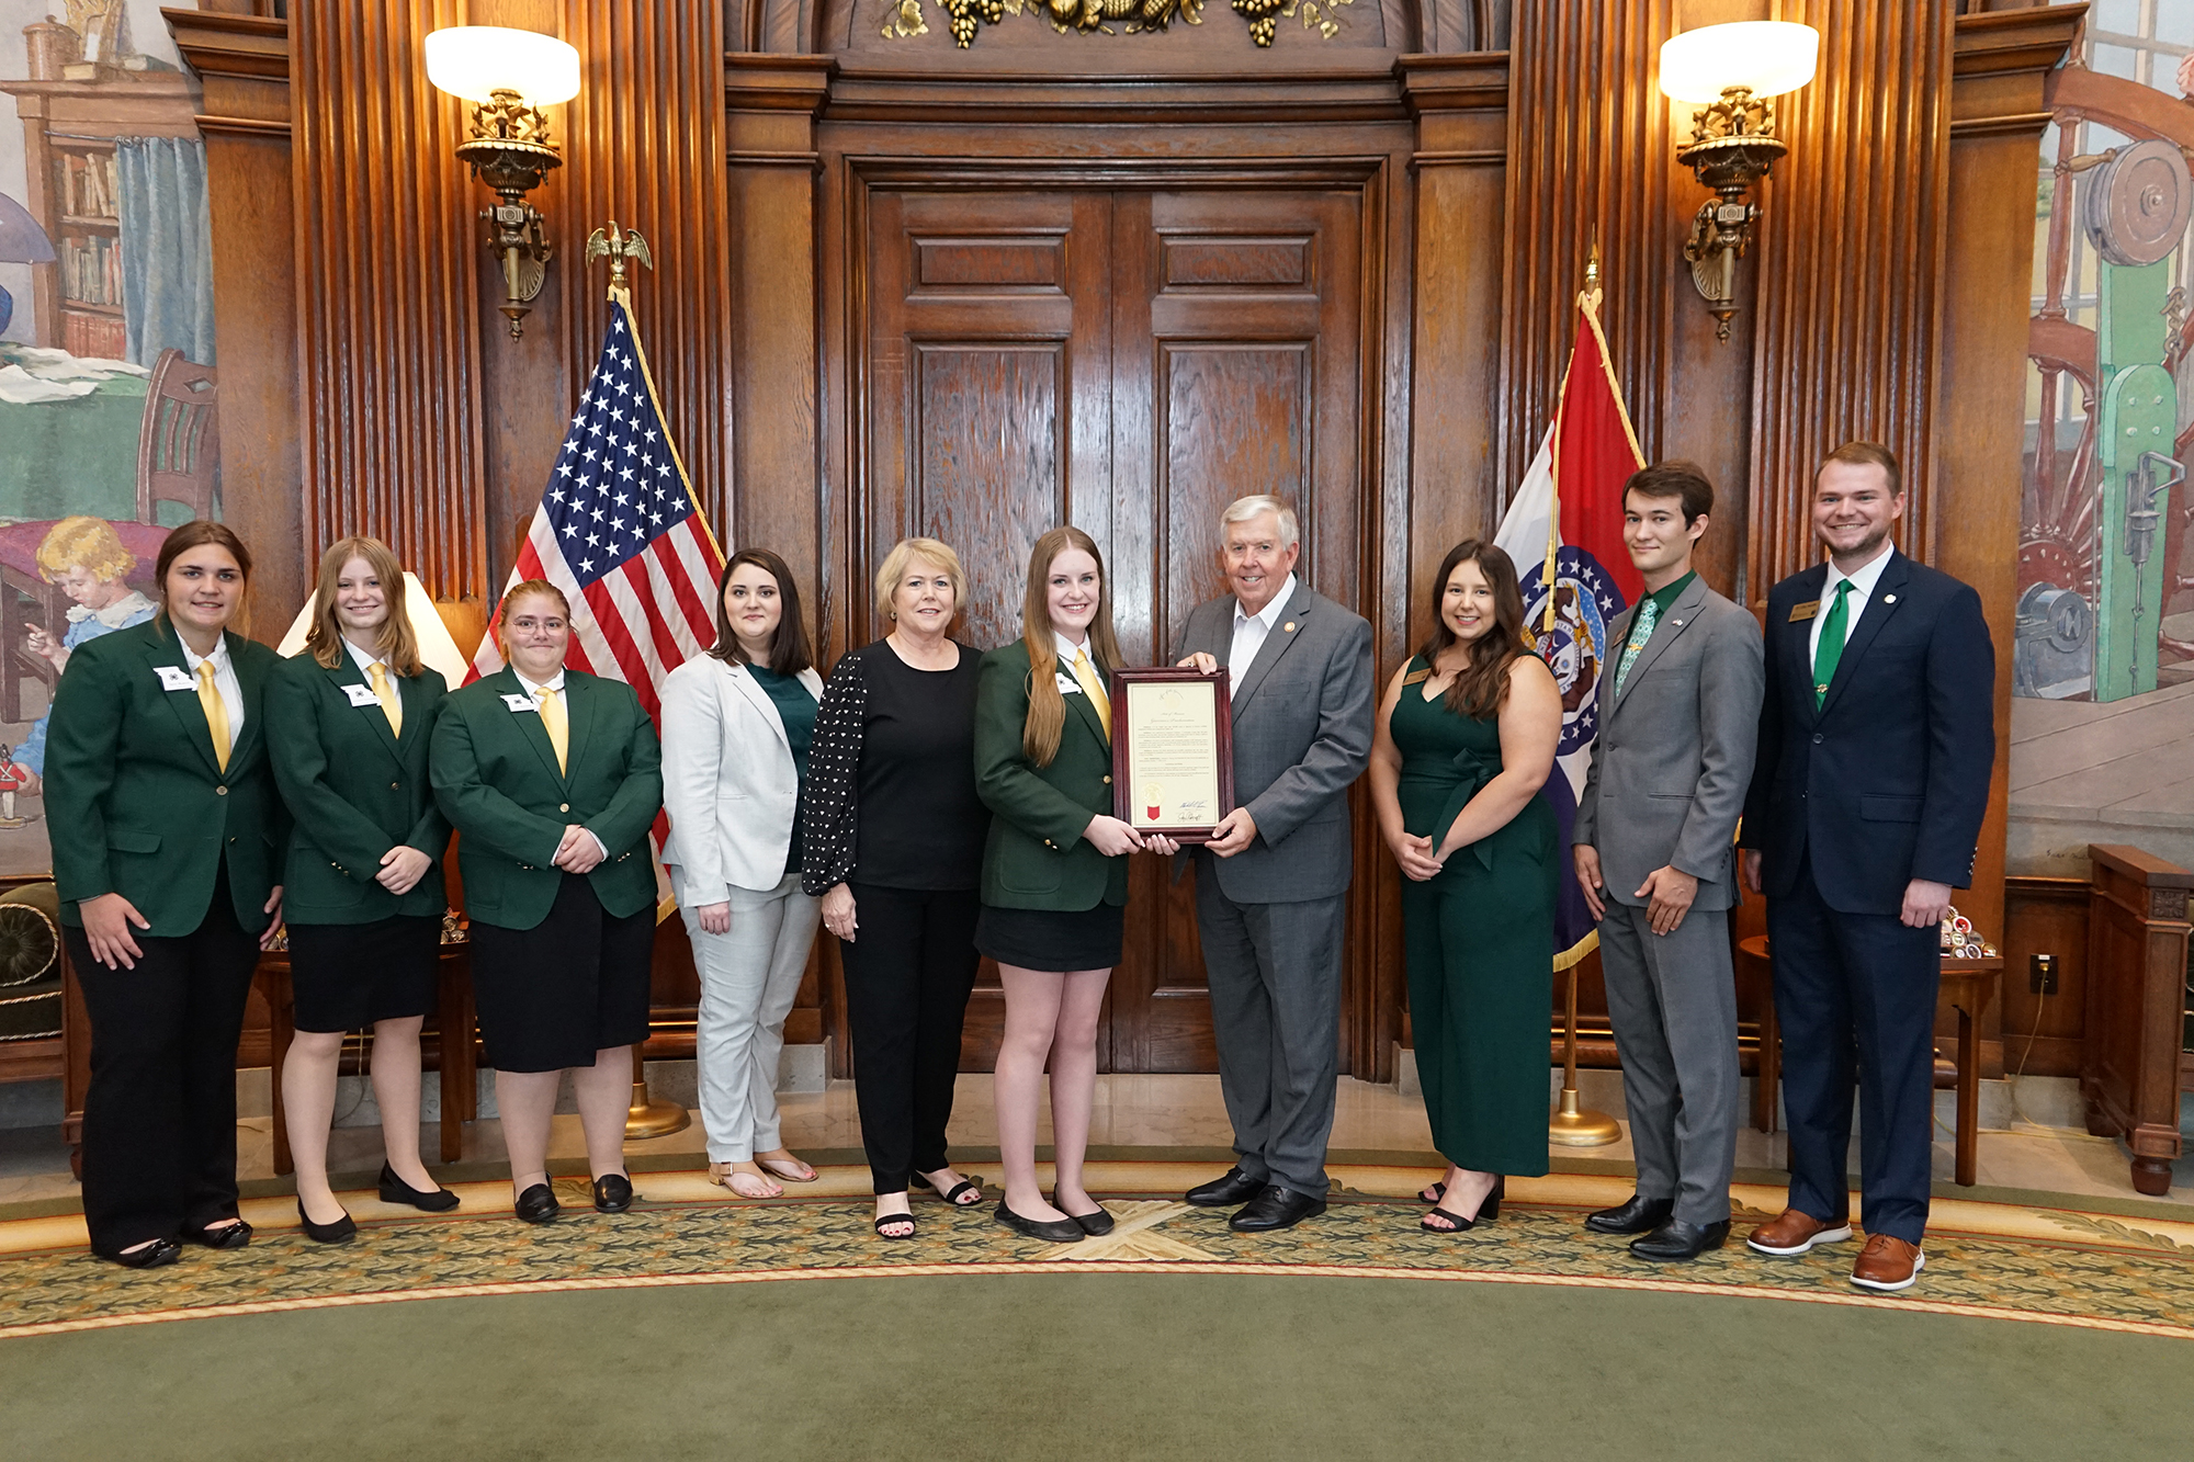
[[[136,931],[132,931],[136,933]],[[114,1256],[147,1238],[237,1216],[237,1036],[259,964],[228,896],[228,871],[193,933],[136,933],[134,970],[92,959],[66,929],[92,1016],[83,1093],[83,1227]]]

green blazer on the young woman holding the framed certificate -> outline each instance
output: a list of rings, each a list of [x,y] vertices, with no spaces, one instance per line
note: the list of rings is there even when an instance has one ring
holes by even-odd
[[[1099,667],[1099,674],[1104,667]],[[1066,696],[1051,766],[1020,751],[1029,722],[1029,645],[983,656],[974,694],[974,790],[996,817],[983,845],[983,902],[994,909],[1095,909],[1128,902],[1128,858],[1106,858],[1084,836],[1112,812],[1112,742],[1088,696]]]

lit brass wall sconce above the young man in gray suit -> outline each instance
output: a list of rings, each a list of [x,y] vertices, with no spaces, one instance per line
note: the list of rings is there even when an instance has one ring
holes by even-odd
[[[1775,158],[1790,151],[1775,136],[1768,97],[1812,81],[1819,55],[1821,33],[1788,20],[1700,26],[1661,44],[1661,92],[1703,103],[1692,112],[1692,140],[1676,149],[1676,158],[1716,193],[1698,204],[1683,246],[1692,283],[1718,320],[1716,340],[1729,338],[1729,318],[1738,312],[1738,259],[1760,217],[1760,206],[1744,195],[1768,176]]]

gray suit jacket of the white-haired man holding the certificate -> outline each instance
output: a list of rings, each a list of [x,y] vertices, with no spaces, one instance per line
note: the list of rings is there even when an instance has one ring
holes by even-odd
[[[1202,650],[1226,665],[1233,615],[1233,595],[1198,604],[1172,659]],[[1198,854],[1198,876],[1237,904],[1334,898],[1354,869],[1347,790],[1371,760],[1371,626],[1297,580],[1257,659],[1226,670],[1235,806],[1257,839],[1233,858]]]

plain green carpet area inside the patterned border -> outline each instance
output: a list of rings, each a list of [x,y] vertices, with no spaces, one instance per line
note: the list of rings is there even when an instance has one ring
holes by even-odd
[[[2176,1339],[1727,1295],[827,1278],[9,1339],[0,1453],[2135,1462],[2190,1455],[2190,1363]]]

